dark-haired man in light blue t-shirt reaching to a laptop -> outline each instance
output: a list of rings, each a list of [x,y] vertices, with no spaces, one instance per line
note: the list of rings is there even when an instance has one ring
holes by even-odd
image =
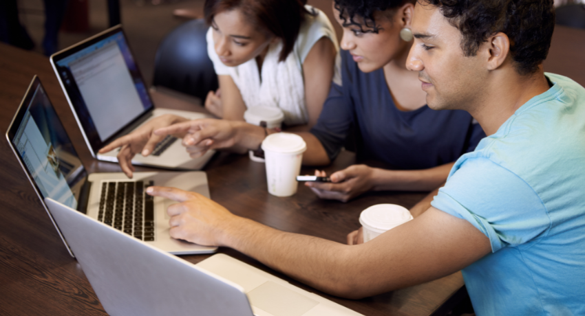
[[[445,1],[447,2],[447,1]],[[420,0],[407,67],[432,109],[488,135],[432,207],[352,246],[288,234],[173,188],[171,236],[232,247],[321,291],[359,298],[462,269],[477,315],[585,315],[585,89],[544,74],[550,0]]]

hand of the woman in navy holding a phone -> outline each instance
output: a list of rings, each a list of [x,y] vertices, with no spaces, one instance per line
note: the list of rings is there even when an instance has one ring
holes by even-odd
[[[307,185],[321,199],[339,200],[347,202],[354,197],[371,190],[373,168],[365,165],[353,165],[344,170],[331,174],[331,183],[306,182]],[[315,175],[326,177],[324,171],[315,170]]]

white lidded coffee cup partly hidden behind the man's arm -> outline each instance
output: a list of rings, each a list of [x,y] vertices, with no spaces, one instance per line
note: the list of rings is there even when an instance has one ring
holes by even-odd
[[[378,204],[363,210],[359,223],[363,227],[363,242],[368,242],[384,232],[412,220],[412,214],[396,204]]]

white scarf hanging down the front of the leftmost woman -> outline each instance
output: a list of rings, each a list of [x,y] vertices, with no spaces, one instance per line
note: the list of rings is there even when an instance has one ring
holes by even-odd
[[[299,69],[301,63],[293,52],[279,63],[281,49],[280,41],[270,45],[262,63],[262,77],[256,58],[253,58],[240,66],[230,67],[231,78],[240,89],[246,107],[277,106],[284,112],[284,124],[307,124],[305,84],[302,69]]]

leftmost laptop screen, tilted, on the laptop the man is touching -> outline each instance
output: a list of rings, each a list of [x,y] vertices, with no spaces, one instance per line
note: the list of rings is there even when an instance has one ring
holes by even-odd
[[[31,84],[8,137],[37,192],[78,208],[87,172],[38,78]]]

